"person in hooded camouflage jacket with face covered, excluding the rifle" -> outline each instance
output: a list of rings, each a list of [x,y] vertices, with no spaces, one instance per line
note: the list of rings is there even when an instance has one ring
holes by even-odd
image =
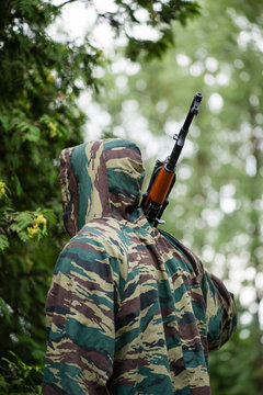
[[[139,207],[134,143],[104,139],[60,156],[72,237],[47,295],[43,394],[208,395],[208,350],[236,327],[222,282]]]

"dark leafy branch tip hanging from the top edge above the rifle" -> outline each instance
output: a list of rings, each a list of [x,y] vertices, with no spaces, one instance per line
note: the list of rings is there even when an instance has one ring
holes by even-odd
[[[116,0],[115,5],[116,12],[99,13],[99,19],[106,20],[116,35],[125,34],[125,56],[132,60],[162,57],[174,44],[173,21],[184,26],[191,16],[199,13],[196,2],[184,0]],[[139,37],[138,26],[150,27],[155,40]]]

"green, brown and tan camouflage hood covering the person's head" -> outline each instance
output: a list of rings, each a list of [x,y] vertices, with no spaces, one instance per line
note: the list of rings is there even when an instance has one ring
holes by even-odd
[[[59,178],[69,235],[73,237],[93,218],[133,221],[144,174],[140,150],[127,140],[104,139],[64,149]]]

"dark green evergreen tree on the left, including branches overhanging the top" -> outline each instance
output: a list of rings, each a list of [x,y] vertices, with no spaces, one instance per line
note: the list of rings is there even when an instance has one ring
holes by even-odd
[[[79,0],[80,1],[80,0]],[[89,36],[82,44],[47,33],[69,0],[2,0],[0,15],[0,391],[39,393],[45,353],[44,303],[58,252],[61,224],[58,157],[84,139],[87,115],[78,99],[99,93],[95,70],[108,60]],[[193,1],[115,1],[98,12],[126,56],[155,58],[173,44],[172,21],[198,12]],[[94,7],[87,0],[87,7]],[[138,40],[139,13],[157,40]],[[65,26],[65,30],[67,26]],[[10,357],[11,352],[11,357]]]

